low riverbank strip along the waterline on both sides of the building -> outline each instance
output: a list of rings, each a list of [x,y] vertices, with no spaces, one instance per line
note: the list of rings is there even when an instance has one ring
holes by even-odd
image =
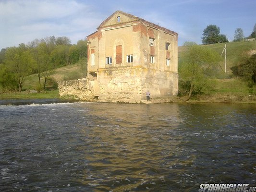
[[[56,102],[70,102],[70,101],[88,101],[88,102],[102,102],[102,103],[108,103],[108,101],[100,100],[100,99],[90,99],[90,100],[79,100],[75,99],[74,97],[61,97],[59,95],[58,90],[54,91],[45,91],[41,93],[35,93],[35,92],[22,92],[22,93],[10,93],[10,94],[0,94],[0,100],[8,100],[8,101],[2,101],[10,103],[12,101],[15,101],[15,103],[19,102],[19,100],[27,100],[27,101],[38,101],[39,100],[47,100],[47,103],[56,103]],[[118,101],[111,101],[109,103],[121,103]],[[242,95],[238,93],[223,93],[223,94],[214,94],[210,96],[200,95],[200,96],[194,96],[189,101],[187,101],[186,96],[171,96],[171,97],[162,97],[162,98],[151,98],[150,101],[146,101],[146,98],[141,100],[142,104],[157,104],[157,103],[252,103],[256,104],[256,96],[254,95]]]

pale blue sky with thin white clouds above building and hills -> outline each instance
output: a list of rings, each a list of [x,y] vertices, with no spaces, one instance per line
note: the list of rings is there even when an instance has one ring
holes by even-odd
[[[256,24],[256,0],[0,0],[0,49],[47,36],[67,36],[72,44],[97,30],[120,10],[168,28],[185,41],[202,44],[209,24],[232,41]]]

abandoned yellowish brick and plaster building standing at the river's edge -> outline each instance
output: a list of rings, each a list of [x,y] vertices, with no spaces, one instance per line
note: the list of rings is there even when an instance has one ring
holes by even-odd
[[[140,103],[178,93],[178,34],[117,11],[87,36],[86,96]]]

